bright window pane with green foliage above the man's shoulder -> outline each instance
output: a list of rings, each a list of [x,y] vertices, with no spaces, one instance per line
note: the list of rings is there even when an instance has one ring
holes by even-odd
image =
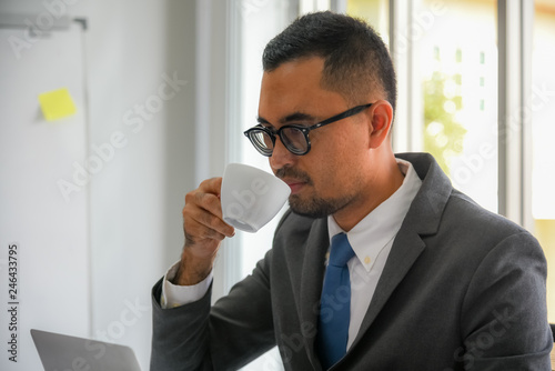
[[[455,188],[496,212],[496,4],[450,0],[434,12],[436,3],[415,2],[414,19],[428,27],[414,40],[422,121],[413,130]]]

